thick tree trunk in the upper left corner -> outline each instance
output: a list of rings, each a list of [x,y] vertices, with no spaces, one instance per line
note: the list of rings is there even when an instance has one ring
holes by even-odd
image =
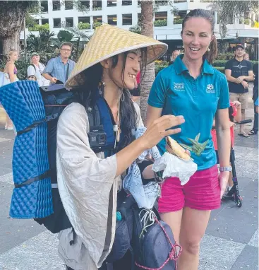
[[[0,40],[3,54],[10,49],[20,50],[20,32],[23,28],[25,14],[30,8],[39,7],[40,1],[1,1]]]

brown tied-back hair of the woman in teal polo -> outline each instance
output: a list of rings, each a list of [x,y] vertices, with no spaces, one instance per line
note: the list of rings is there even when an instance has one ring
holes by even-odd
[[[181,34],[183,33],[183,28],[185,27],[186,21],[189,20],[190,18],[205,18],[207,21],[210,22],[212,35],[214,35],[215,18],[212,11],[207,11],[205,9],[193,9],[192,11],[190,11],[188,14],[186,14],[186,16],[183,19],[183,23],[181,24],[182,25]],[[207,59],[207,61],[210,64],[212,64],[212,62],[217,57],[217,39],[215,36],[213,37],[212,42],[210,42],[209,49],[210,52],[206,52],[203,55],[203,59]]]

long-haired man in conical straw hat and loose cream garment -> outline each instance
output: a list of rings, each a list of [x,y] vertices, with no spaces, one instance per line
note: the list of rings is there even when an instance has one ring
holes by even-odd
[[[146,64],[166,51],[167,45],[150,37],[102,25],[95,30],[66,81],[66,87],[76,89],[82,99],[80,104],[74,102],[66,107],[57,127],[59,193],[75,232],[68,228],[59,233],[59,254],[67,269],[106,270],[105,262],[114,243],[121,175],[143,151],[164,136],[180,131],[170,128],[184,119],[167,115],[131,142],[132,128],[143,126],[143,122],[128,90],[135,87],[140,69],[145,74]],[[109,111],[103,118],[111,121],[105,131],[112,137],[112,150],[105,153],[90,148],[85,110],[89,104],[107,106]],[[127,269],[128,264],[123,267]]]

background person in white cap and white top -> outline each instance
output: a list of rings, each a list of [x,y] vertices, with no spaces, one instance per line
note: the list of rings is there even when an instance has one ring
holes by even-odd
[[[35,76],[36,81],[39,83],[39,86],[49,86],[50,81],[46,80],[42,76],[42,71],[44,70],[44,64],[40,63],[40,55],[37,52],[33,52],[30,58],[30,66],[27,69],[27,76]]]

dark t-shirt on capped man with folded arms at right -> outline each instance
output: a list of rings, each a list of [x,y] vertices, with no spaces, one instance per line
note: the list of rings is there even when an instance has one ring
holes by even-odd
[[[248,76],[248,71],[252,71],[252,64],[250,61],[237,61],[235,58],[227,61],[226,68],[231,70],[231,76],[239,78],[239,76]],[[232,83],[229,81],[229,92],[231,93],[247,93],[248,88],[244,88],[241,83]]]

